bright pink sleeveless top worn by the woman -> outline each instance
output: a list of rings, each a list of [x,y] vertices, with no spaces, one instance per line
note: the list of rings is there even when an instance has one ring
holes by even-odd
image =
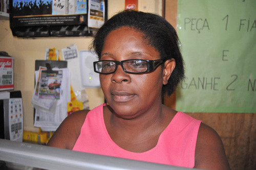
[[[155,148],[143,153],[134,153],[120,148],[109,136],[104,124],[103,106],[104,104],[87,114],[73,151],[194,167],[200,120],[178,112],[160,135]]]

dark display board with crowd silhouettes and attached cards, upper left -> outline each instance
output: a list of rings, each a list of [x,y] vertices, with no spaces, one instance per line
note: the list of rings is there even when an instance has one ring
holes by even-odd
[[[93,36],[107,6],[107,0],[10,0],[10,27],[17,37]]]

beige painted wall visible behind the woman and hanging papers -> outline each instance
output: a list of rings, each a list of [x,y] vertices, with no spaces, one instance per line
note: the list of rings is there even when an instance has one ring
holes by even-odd
[[[124,0],[109,0],[109,17],[118,11],[124,10]],[[140,11],[162,14],[161,0],[138,0]],[[91,37],[65,37],[65,38],[17,38],[13,37],[9,20],[0,20],[0,51],[7,52],[14,57],[14,90],[22,91],[24,109],[24,129],[38,131],[33,126],[33,108],[31,104],[34,90],[35,60],[45,59],[46,48],[55,47],[61,52],[62,48],[76,44],[78,51],[88,50]],[[60,53],[62,58],[62,54]],[[86,88],[90,109],[103,103],[101,89]]]

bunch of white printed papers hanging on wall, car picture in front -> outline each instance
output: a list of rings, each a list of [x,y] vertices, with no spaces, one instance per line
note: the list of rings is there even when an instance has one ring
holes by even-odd
[[[34,126],[40,127],[43,131],[55,131],[68,116],[67,103],[71,101],[70,72],[68,68],[53,68],[53,71],[45,69],[40,68],[36,71],[39,85],[38,90],[35,87],[32,98],[35,108]],[[55,89],[50,86],[49,89],[48,86],[52,83],[60,83],[60,86],[55,86]],[[41,86],[42,84],[45,85]]]

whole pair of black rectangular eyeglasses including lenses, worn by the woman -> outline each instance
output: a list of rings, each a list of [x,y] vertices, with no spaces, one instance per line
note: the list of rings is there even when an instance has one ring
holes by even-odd
[[[112,74],[116,71],[117,66],[121,65],[124,72],[130,74],[141,74],[144,72],[154,71],[165,60],[101,60],[93,62],[94,71],[99,74]]]

